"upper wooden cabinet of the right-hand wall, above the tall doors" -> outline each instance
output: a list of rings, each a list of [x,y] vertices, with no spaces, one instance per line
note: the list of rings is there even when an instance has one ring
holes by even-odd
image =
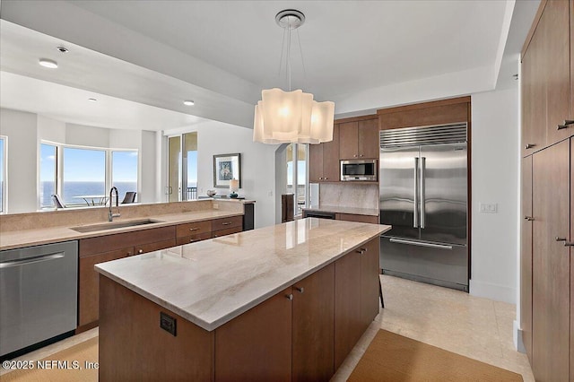
[[[574,2],[543,1],[522,52],[522,154],[574,131],[570,14]]]

